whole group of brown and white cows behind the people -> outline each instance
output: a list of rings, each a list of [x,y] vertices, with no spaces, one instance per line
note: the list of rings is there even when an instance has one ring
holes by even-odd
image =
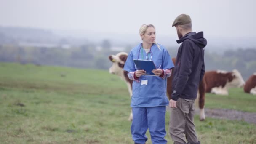
[[[123,70],[125,61],[128,54],[125,52],[117,53],[116,55],[109,56],[109,60],[113,62],[112,67],[109,68],[111,74],[118,75],[128,86],[130,97],[132,96],[132,83],[133,81],[128,78],[127,72]],[[172,59],[175,64],[176,58]],[[173,70],[173,69],[172,69]],[[171,99],[172,93],[172,82],[173,76],[167,78],[167,93],[169,99]],[[200,120],[205,120],[204,104],[205,104],[205,93],[214,93],[219,95],[228,95],[229,88],[244,87],[245,93],[256,95],[256,73],[251,75],[246,81],[243,80],[242,75],[236,69],[232,72],[223,70],[207,71],[200,82],[198,88],[198,101],[200,108]],[[132,120],[132,112],[128,120]]]

